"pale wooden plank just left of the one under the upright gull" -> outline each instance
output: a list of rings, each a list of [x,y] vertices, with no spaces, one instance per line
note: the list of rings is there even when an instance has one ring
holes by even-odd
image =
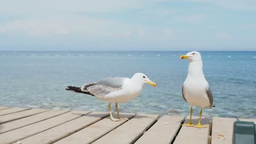
[[[185,116],[164,115],[135,144],[171,144],[184,118]]]

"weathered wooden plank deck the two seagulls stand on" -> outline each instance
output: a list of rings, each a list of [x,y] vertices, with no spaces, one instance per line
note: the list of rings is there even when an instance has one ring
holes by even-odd
[[[116,117],[116,115],[115,115]],[[0,107],[0,144],[232,144],[236,119],[203,117],[207,128],[181,126],[189,117]],[[193,123],[198,117],[193,116]],[[224,138],[224,139],[223,139]]]

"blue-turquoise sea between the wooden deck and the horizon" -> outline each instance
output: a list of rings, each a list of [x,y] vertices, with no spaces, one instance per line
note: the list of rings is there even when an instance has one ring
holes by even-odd
[[[188,61],[179,59],[186,53],[0,51],[0,105],[107,111],[106,102],[64,89],[143,72],[157,83],[157,88],[145,85],[140,96],[119,104],[121,112],[189,115],[189,105],[181,94]],[[256,52],[201,55],[216,105],[204,110],[203,115],[256,117]],[[199,115],[199,110],[195,108],[193,115]]]

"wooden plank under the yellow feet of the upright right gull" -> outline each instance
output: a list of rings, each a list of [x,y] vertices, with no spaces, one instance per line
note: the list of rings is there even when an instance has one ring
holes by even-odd
[[[199,117],[193,116],[192,123],[197,124]],[[186,117],[184,123],[189,122],[189,116]],[[194,128],[182,126],[178,136],[173,144],[208,144],[209,136],[209,117],[202,117],[201,124],[207,128]]]

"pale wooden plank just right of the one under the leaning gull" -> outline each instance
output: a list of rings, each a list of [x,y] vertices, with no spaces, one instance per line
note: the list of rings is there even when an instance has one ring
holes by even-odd
[[[131,144],[155,123],[158,117],[159,115],[136,115],[93,144]]]

